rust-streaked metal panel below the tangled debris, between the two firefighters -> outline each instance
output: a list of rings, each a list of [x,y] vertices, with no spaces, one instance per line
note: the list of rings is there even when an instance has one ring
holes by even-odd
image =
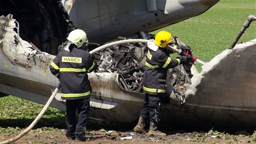
[[[112,102],[112,108],[102,110],[91,107],[90,117],[97,120],[134,122],[144,103],[144,93],[124,90],[120,86],[122,77],[117,73],[90,73],[92,86],[91,97],[102,100],[102,103]],[[113,104],[115,103],[115,104]],[[92,105],[91,105],[92,106]]]

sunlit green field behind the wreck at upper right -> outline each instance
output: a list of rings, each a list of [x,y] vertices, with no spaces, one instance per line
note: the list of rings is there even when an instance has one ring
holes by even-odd
[[[169,31],[192,47],[200,60],[208,62],[232,45],[250,14],[256,14],[255,0],[220,0],[200,16],[159,29]],[[250,24],[240,41],[256,38],[256,21]]]

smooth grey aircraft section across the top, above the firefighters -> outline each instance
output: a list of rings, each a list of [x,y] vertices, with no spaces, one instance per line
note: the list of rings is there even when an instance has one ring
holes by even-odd
[[[198,16],[216,2],[218,0],[76,1],[70,19],[86,31],[91,42],[109,42],[117,36],[146,39],[147,32]]]

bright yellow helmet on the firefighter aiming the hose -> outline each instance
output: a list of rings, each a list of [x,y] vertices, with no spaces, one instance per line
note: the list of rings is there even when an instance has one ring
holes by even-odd
[[[154,43],[159,47],[166,47],[166,45],[173,40],[174,39],[171,37],[171,33],[161,31],[156,34]]]

